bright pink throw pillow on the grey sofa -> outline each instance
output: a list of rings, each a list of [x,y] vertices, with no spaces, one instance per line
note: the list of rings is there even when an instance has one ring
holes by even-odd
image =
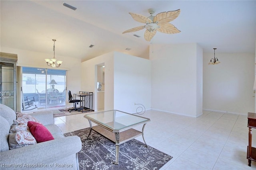
[[[28,128],[34,136],[34,138],[36,139],[37,143],[50,141],[54,139],[50,131],[48,131],[48,129],[46,129],[44,125],[38,122],[28,121]]]

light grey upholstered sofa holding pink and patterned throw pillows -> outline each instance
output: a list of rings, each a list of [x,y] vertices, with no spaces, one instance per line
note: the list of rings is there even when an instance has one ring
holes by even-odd
[[[64,137],[62,131],[54,125],[52,111],[28,115],[31,115],[46,127],[54,139],[9,149],[10,129],[18,117],[17,115],[10,107],[0,104],[1,170],[79,169],[77,153],[82,149],[81,139],[78,136]]]

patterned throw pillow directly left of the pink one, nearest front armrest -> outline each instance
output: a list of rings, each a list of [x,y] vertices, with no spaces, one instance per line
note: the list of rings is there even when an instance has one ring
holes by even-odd
[[[11,125],[9,137],[9,149],[16,149],[36,144],[36,139],[30,133],[28,126],[18,125],[15,121]]]

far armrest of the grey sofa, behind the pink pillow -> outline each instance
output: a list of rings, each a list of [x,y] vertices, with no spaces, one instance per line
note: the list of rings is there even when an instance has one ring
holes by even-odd
[[[30,113],[29,115],[36,118],[43,125],[54,124],[54,117],[52,111],[41,111],[36,113]]]

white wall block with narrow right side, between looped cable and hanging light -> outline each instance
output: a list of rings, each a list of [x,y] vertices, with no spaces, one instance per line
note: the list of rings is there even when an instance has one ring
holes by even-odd
[[[152,109],[198,117],[202,114],[202,48],[196,43],[154,45]]]

